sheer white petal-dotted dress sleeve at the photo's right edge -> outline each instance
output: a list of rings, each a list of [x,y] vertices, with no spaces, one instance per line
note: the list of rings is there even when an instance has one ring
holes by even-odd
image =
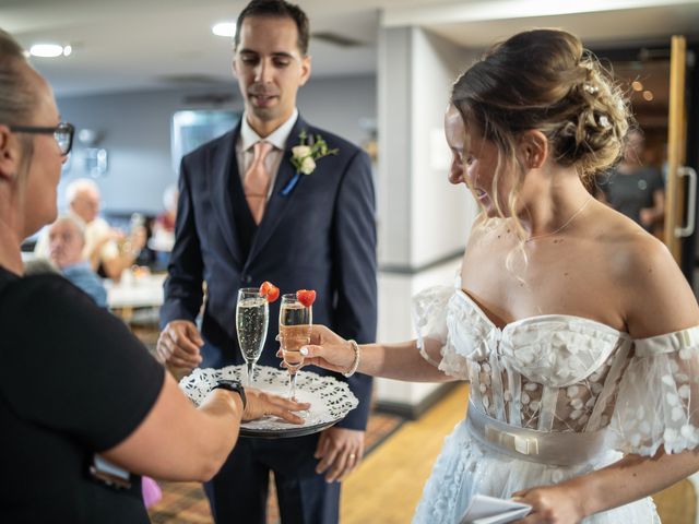
[[[654,455],[699,445],[699,326],[635,343],[611,429],[625,453]]]

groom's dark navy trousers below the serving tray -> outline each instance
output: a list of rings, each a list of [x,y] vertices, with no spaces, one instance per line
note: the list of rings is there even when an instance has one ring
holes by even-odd
[[[336,524],[340,484],[316,474],[318,438],[238,438],[218,474],[204,485],[216,524],[266,524],[270,469],[282,524]]]

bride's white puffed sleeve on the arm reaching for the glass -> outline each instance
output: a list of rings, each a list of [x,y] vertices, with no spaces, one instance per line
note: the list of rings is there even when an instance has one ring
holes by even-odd
[[[429,287],[413,298],[413,321],[417,333],[417,348],[425,360],[441,371],[458,379],[467,379],[469,370],[464,356],[457,354],[448,325],[449,301],[454,295],[450,286]],[[436,361],[425,348],[427,340],[436,341],[441,360]]]

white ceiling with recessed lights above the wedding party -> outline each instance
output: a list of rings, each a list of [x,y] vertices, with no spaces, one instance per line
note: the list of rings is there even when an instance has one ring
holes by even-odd
[[[26,47],[48,40],[73,46],[68,58],[33,59],[59,95],[171,86],[176,78],[180,78],[179,85],[182,78],[192,76],[230,82],[230,43],[212,35],[211,26],[234,20],[245,3],[0,0],[0,27]],[[534,26],[565,27],[589,45],[605,46],[663,41],[672,34],[699,36],[699,0],[583,0],[579,8],[573,0],[298,3],[309,14],[312,32],[332,32],[364,43],[347,49],[311,39],[316,76],[375,72],[381,25],[420,25],[472,48]],[[591,9],[603,12],[583,12]],[[578,12],[567,14],[569,11]]]

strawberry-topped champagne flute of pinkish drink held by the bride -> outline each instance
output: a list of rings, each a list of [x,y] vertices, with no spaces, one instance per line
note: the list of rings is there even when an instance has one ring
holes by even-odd
[[[282,357],[289,372],[288,397],[296,400],[296,371],[304,364],[301,346],[310,343],[312,309],[304,306],[296,295],[282,296],[280,308],[280,343]]]

